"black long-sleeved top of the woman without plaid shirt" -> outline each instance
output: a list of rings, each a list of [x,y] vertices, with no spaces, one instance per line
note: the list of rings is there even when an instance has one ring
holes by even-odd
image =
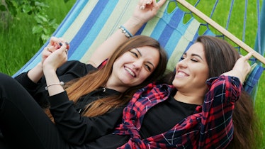
[[[92,70],[96,70],[92,65],[86,65],[79,61],[69,61],[57,69],[57,76],[60,81],[68,82],[72,79],[83,77]],[[64,139],[73,145],[84,145],[88,141],[111,133],[113,132],[113,128],[121,122],[124,107],[113,109],[103,116],[92,118],[80,116],[79,111],[82,109],[82,106],[74,106],[73,102],[69,101],[66,92],[54,96],[48,95],[45,90],[45,77],[40,79],[37,84],[28,78],[26,72],[18,75],[15,79],[38,101],[40,106],[44,107],[50,104],[50,111],[55,118],[58,130],[62,133]],[[111,94],[120,93],[113,89],[97,89],[93,94],[87,94],[80,100],[88,104],[91,101]]]

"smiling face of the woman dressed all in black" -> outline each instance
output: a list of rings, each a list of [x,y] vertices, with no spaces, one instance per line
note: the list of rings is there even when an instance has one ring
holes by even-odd
[[[159,62],[159,51],[151,46],[133,48],[113,63],[110,79],[120,87],[133,87],[149,77]],[[107,83],[107,85],[109,82]]]

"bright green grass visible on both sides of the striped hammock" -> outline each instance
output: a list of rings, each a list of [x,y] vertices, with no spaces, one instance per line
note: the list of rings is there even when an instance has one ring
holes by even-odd
[[[65,15],[71,9],[75,1],[68,1],[66,4],[60,0],[49,1],[45,0],[47,4],[50,5],[47,15],[50,18],[56,18],[57,23],[60,23]],[[196,0],[187,0],[191,4],[195,4]],[[215,1],[204,0],[201,1],[197,8],[201,10],[205,15],[210,16],[211,10],[213,8]],[[58,6],[58,4],[60,4]],[[246,36],[244,43],[247,43],[250,47],[254,47],[255,37],[256,37],[256,3],[248,4],[248,16],[247,16],[247,27]],[[242,28],[243,28],[243,17],[244,17],[244,1],[235,1],[235,9],[232,10],[232,16],[230,18],[230,24],[228,31],[230,31],[237,38],[242,39]],[[208,9],[210,8],[210,9]],[[228,17],[228,12],[230,8],[230,2],[219,1],[215,12],[213,13],[213,20],[220,24],[220,26],[226,26],[226,20]],[[201,20],[198,18],[198,20]],[[28,60],[30,60],[33,55],[40,49],[43,45],[38,40],[37,35],[33,35],[32,28],[34,19],[33,16],[28,16],[23,13],[18,14],[18,19],[10,20],[9,16],[3,17],[1,15],[0,21],[0,72],[7,75],[13,75],[17,72],[23,65],[25,65]],[[5,26],[1,26],[5,24]],[[244,53],[244,52],[243,52]],[[259,80],[259,89],[256,94],[255,110],[259,116],[260,123],[259,129],[261,130],[262,136],[265,134],[265,73],[261,76]],[[257,138],[257,143],[260,148],[265,148],[265,140],[262,138]]]

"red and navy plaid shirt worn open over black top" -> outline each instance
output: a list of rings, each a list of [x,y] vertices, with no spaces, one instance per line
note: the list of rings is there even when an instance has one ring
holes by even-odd
[[[232,140],[232,111],[242,84],[237,77],[228,76],[208,79],[207,84],[204,103],[193,115],[150,138],[140,136],[142,119],[152,106],[167,100],[174,87],[148,84],[135,93],[123,111],[123,123],[115,128],[115,134],[130,135],[128,143],[120,148],[225,148]]]

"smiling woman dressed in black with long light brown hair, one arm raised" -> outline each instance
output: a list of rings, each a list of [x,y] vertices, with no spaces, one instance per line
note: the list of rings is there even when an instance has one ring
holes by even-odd
[[[140,1],[146,8],[135,14],[141,15],[120,26],[98,48],[105,52],[91,55],[88,64],[67,61],[68,44],[53,37],[32,70],[15,79],[0,74],[0,130],[10,148],[86,148],[86,143],[113,132],[136,90],[166,69],[167,54],[157,40],[131,37],[136,30],[128,33],[152,18],[164,2],[150,8]],[[113,38],[118,40],[110,42]]]

